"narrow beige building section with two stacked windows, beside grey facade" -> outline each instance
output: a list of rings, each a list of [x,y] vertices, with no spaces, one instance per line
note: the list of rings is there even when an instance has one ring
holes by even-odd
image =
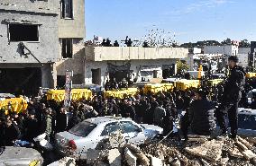
[[[65,72],[73,71],[73,83],[84,83],[85,0],[61,0],[59,14],[59,61],[57,83],[65,84]]]

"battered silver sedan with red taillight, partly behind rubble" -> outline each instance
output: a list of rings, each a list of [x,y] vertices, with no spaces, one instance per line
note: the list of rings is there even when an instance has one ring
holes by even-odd
[[[116,131],[121,131],[128,143],[143,144],[163,132],[161,127],[148,124],[137,124],[131,118],[98,117],[88,118],[69,131],[55,135],[57,152],[62,156],[83,160],[88,149],[96,145]]]

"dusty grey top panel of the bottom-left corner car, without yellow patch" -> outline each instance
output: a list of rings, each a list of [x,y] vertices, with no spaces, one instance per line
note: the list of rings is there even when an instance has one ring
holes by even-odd
[[[23,163],[30,163],[34,160],[42,161],[42,157],[41,153],[32,148],[6,146],[0,155],[1,164],[17,162],[15,165],[23,165]]]

